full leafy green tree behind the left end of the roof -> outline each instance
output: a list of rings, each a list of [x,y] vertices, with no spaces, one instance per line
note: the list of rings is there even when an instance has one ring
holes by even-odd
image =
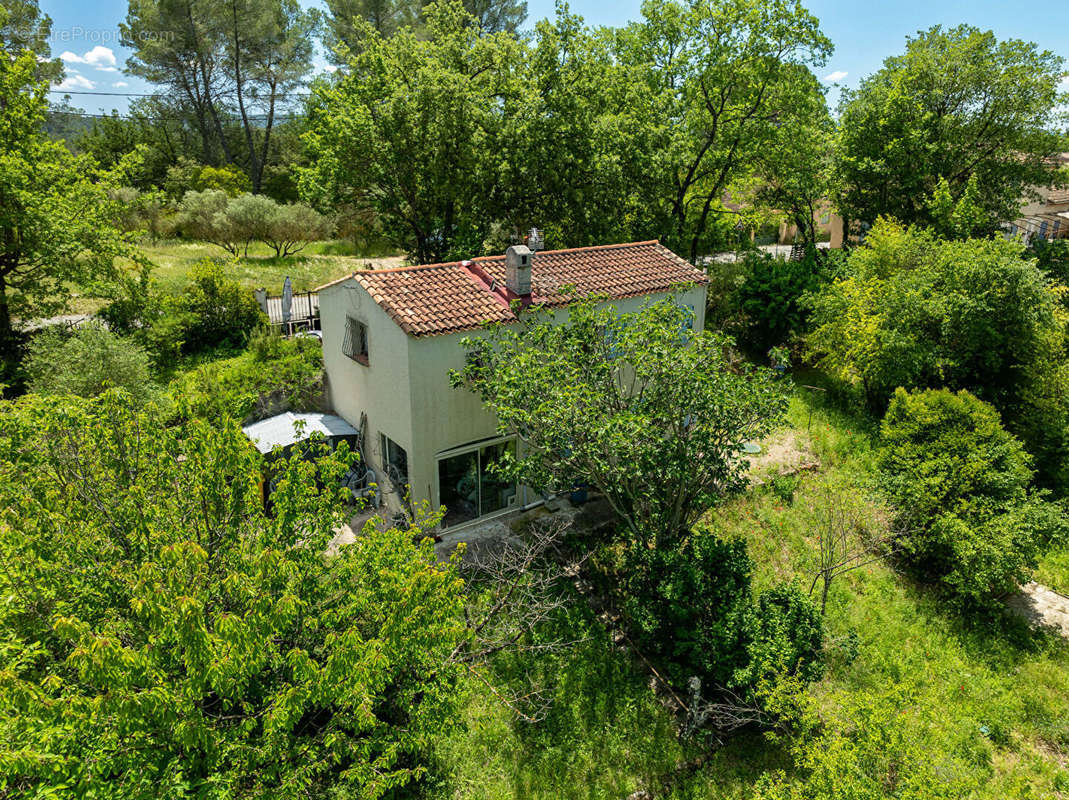
[[[481,35],[459,2],[428,9],[425,36],[383,36],[319,87],[303,193],[323,205],[373,209],[384,232],[421,262],[477,255],[501,193],[501,106],[518,98],[523,48]]]

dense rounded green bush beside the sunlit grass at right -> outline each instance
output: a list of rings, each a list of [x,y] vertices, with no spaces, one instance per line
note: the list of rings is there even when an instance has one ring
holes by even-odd
[[[982,602],[1028,579],[1039,554],[1069,540],[1065,510],[1032,494],[1031,459],[998,413],[965,391],[898,389],[881,426],[880,471],[927,580]]]

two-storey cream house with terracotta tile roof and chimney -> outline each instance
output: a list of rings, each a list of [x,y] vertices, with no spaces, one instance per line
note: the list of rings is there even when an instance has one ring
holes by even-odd
[[[657,242],[494,256],[357,272],[320,288],[330,402],[360,430],[387,506],[446,507],[445,527],[507,513],[541,497],[489,467],[515,443],[497,434],[479,398],[449,385],[464,367],[461,341],[484,322],[510,323],[513,302],[563,318],[578,295],[621,312],[685,287],[678,302],[704,325],[707,276]],[[571,293],[574,290],[574,293]],[[522,311],[521,311],[522,313]]]

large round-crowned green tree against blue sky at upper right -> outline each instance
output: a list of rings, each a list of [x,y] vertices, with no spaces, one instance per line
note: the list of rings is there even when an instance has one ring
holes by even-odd
[[[839,204],[850,219],[880,215],[931,225],[945,181],[954,201],[971,179],[987,228],[1013,219],[1022,198],[1056,182],[1064,59],[971,26],[936,26],[845,90],[839,107]]]

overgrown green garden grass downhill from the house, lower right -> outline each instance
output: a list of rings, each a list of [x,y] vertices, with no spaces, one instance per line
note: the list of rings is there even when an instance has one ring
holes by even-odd
[[[802,462],[815,457],[820,468],[803,473],[793,495],[790,481],[765,482],[710,513],[722,534],[748,542],[756,589],[792,579],[808,589],[811,534],[830,508],[852,508],[877,528],[887,521],[871,486],[871,425],[810,405],[812,397],[792,400],[789,426],[769,444],[793,447]],[[758,477],[771,471],[761,467]],[[1069,573],[1065,556],[1049,560],[1045,573],[1057,565]],[[1066,642],[1012,618],[963,617],[883,563],[833,584],[826,618],[828,671],[811,693],[828,728],[850,734],[841,709],[898,688],[905,705],[894,721],[897,735],[930,757],[934,774],[967,787],[954,796],[1069,798]],[[681,744],[641,673],[582,600],[561,624],[586,641],[563,655],[499,666],[506,676],[544,680],[554,698],[549,718],[515,722],[474,684],[464,697],[465,729],[437,754],[448,776],[434,794],[616,799],[648,788],[659,799],[746,798],[763,771],[790,774],[787,754],[759,735],[737,737],[704,758]]]

